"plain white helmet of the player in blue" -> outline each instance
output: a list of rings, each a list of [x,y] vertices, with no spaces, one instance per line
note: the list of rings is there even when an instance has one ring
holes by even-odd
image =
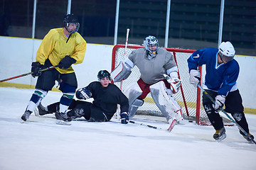
[[[225,60],[227,62],[229,62],[230,60],[233,60],[233,58],[235,57],[235,48],[229,41],[221,42],[218,48],[218,52],[220,55],[220,59]]]

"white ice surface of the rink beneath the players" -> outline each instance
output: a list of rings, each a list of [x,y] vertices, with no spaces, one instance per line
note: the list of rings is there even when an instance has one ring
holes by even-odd
[[[21,123],[32,89],[0,88],[0,169],[256,169],[256,145],[248,143],[236,126],[225,127],[227,137],[213,140],[213,127],[183,120],[172,132],[139,125],[73,121],[56,125],[53,115],[31,115]],[[50,91],[43,105],[58,101]],[[246,114],[256,136],[256,115]],[[159,121],[134,121],[168,128]]]

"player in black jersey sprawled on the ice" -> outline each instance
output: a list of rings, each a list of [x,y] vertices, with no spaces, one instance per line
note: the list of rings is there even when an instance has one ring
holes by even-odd
[[[97,74],[98,81],[93,81],[88,86],[78,89],[75,96],[79,99],[93,98],[92,103],[81,100],[74,100],[68,108],[67,115],[71,119],[84,117],[90,122],[110,121],[117,111],[117,104],[121,109],[121,123],[129,121],[128,98],[114,84],[110,84],[110,73],[107,70],[100,70]],[[59,102],[43,107],[41,104],[35,111],[35,115],[46,115],[58,112]]]

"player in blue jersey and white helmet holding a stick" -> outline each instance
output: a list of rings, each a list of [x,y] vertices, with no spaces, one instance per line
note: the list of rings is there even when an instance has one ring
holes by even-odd
[[[239,64],[234,60],[235,49],[230,42],[222,42],[218,49],[209,47],[193,52],[188,58],[188,69],[190,72],[190,83],[195,87],[201,81],[198,66],[206,64],[206,77],[203,89],[215,98],[215,103],[203,94],[203,107],[208,115],[210,123],[216,130],[213,138],[217,141],[225,139],[225,128],[223,119],[220,117],[220,108],[225,104],[225,111],[231,113],[235,122],[249,134],[249,137],[240,131],[248,141],[254,139],[249,133],[245,113],[243,113],[242,98],[240,96],[236,81],[239,74]]]

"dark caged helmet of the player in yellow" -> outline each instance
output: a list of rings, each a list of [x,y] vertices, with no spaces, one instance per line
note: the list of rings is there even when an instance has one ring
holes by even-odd
[[[68,14],[64,16],[63,19],[64,28],[68,30],[68,33],[73,34],[78,32],[80,28],[80,23],[78,22],[78,18],[76,18],[73,14]],[[75,26],[75,28],[72,28]]]

